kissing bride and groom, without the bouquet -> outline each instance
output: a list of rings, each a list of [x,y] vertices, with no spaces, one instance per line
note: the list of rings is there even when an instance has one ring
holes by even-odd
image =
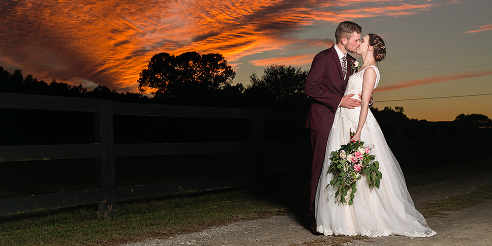
[[[305,91],[312,99],[306,122],[313,150],[312,232],[325,236],[430,237],[436,233],[415,209],[400,164],[369,110],[372,91],[380,79],[377,63],[385,58],[386,45],[376,34],[361,39],[361,33],[356,23],[340,23],[335,31],[336,44],[314,57],[307,76]],[[360,55],[362,66],[347,52]],[[335,177],[329,169],[331,153],[351,141],[373,146],[371,154],[379,163],[382,178],[379,188],[369,188],[366,174],[362,174],[355,181],[357,192],[349,205],[333,199],[337,187],[330,184]]]

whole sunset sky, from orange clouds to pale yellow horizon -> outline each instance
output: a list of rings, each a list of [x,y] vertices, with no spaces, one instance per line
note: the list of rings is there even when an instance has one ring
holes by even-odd
[[[492,118],[491,10],[490,0],[0,0],[0,66],[137,92],[154,54],[196,51],[222,54],[246,85],[270,64],[309,69],[350,20],[388,46],[375,107]],[[449,98],[419,99],[434,97]]]

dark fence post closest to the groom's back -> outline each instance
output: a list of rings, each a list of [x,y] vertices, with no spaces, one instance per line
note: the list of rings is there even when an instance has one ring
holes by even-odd
[[[264,111],[256,110],[256,117],[252,121],[253,127],[253,144],[254,144],[254,169],[256,176],[256,190],[264,191],[265,184],[265,134],[264,134]]]

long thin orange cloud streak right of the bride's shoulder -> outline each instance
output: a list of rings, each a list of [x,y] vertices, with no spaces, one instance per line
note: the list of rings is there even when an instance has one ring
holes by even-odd
[[[430,78],[425,78],[425,79],[404,81],[404,82],[399,82],[399,83],[386,85],[386,86],[379,86],[374,90],[374,92],[386,92],[386,91],[398,90],[398,89],[402,89],[402,88],[406,88],[406,87],[427,85],[427,84],[432,84],[432,83],[451,81],[451,80],[457,80],[457,79],[481,77],[481,76],[487,76],[487,75],[492,75],[492,71],[474,71],[474,72],[448,74],[448,75],[435,76],[435,77],[430,77]]]

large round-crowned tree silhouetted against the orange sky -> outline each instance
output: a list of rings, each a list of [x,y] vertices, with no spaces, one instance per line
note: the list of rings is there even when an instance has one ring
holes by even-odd
[[[138,89],[143,93],[151,91],[156,100],[164,103],[210,105],[220,91],[231,86],[235,76],[220,54],[159,53],[140,73]]]

